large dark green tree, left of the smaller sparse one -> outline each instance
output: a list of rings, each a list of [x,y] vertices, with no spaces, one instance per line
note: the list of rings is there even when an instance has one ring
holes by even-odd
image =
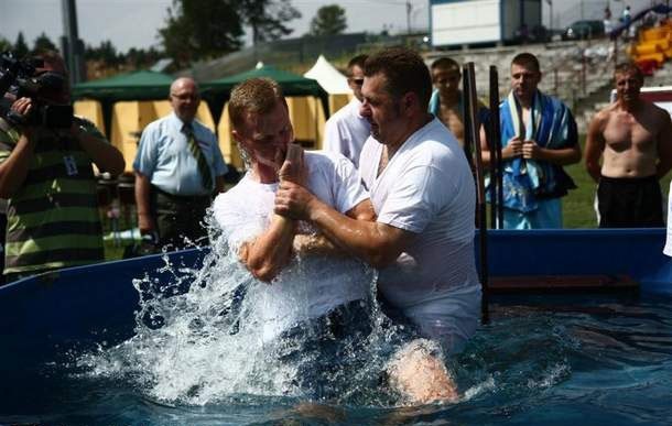
[[[173,0],[159,30],[165,54],[185,67],[237,51],[243,34],[238,8],[237,0]]]

